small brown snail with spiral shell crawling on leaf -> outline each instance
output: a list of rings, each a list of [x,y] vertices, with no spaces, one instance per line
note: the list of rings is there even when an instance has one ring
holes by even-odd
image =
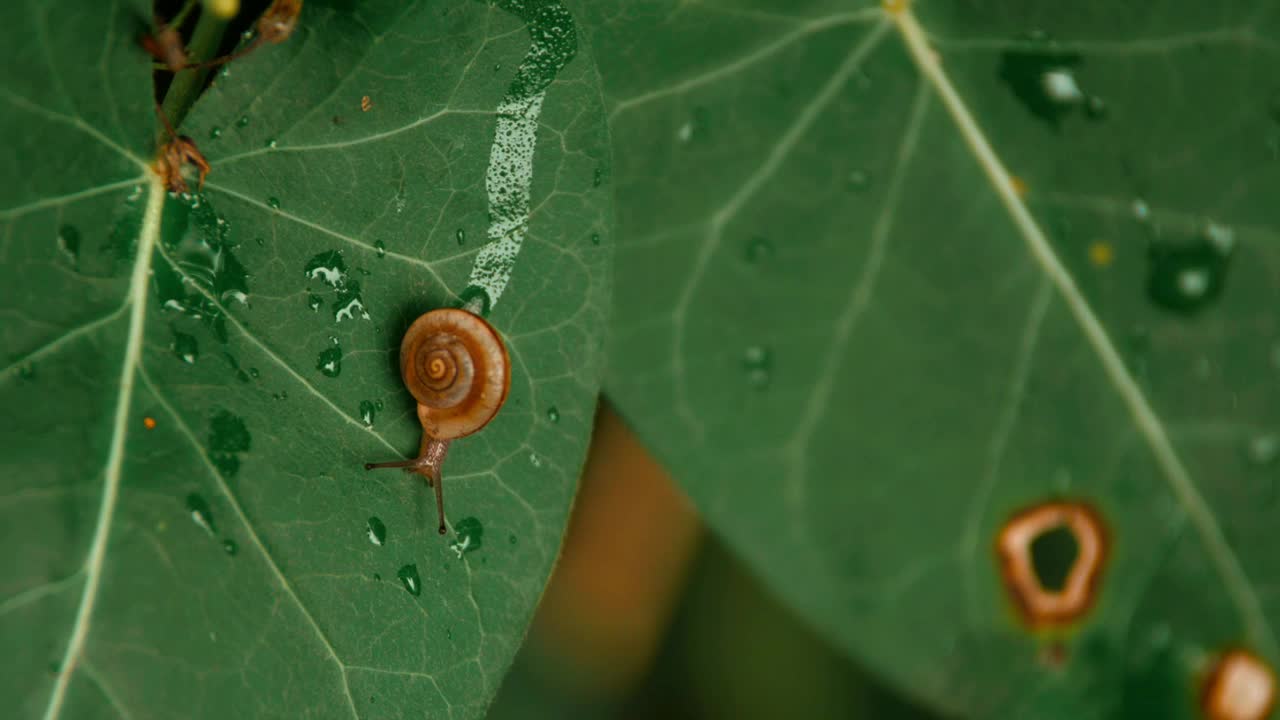
[[[511,363],[498,332],[484,318],[447,307],[420,315],[401,342],[401,378],[417,400],[422,445],[417,457],[367,462],[375,468],[403,468],[426,478],[435,488],[435,507],[444,529],[444,491],[440,465],[449,442],[489,424],[507,401]]]

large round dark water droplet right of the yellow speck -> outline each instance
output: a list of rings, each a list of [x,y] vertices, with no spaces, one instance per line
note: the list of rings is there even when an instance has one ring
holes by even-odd
[[[1222,295],[1230,252],[1220,251],[1213,241],[1157,243],[1147,256],[1147,295],[1156,305],[1190,315]]]

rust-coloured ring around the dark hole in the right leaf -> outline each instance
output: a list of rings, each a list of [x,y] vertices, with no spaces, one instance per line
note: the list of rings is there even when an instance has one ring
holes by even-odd
[[[1032,542],[1065,528],[1076,553],[1060,589],[1043,587],[1032,562]],[[1065,625],[1093,606],[1106,564],[1107,533],[1102,516],[1083,502],[1044,502],[1018,512],[996,538],[1001,574],[1023,619],[1033,628]]]

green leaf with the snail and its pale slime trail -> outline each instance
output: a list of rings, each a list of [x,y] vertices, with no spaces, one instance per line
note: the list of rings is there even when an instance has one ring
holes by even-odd
[[[5,716],[479,716],[602,369],[607,143],[572,18],[308,1],[188,118],[192,197],[148,169],[150,4],[108,5],[0,10]],[[451,451],[442,538],[420,480],[361,465],[417,448],[399,337],[468,284],[512,386]]]

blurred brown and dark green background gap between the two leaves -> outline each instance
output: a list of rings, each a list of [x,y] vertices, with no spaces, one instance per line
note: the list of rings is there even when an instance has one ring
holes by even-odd
[[[602,405],[561,560],[492,720],[933,720],[827,647]]]

